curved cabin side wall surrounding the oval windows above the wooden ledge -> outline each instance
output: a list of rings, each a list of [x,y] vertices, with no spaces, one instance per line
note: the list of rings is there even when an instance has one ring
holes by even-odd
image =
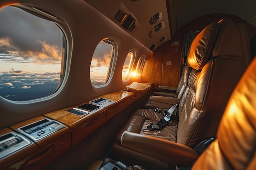
[[[150,50],[144,48],[143,44],[84,1],[76,0],[71,4],[58,2],[58,0],[38,2],[23,0],[22,2],[31,6],[40,6],[43,11],[51,11],[65,21],[66,24],[61,27],[65,31],[68,43],[67,68],[63,83],[52,95],[32,102],[10,102],[0,97],[0,115],[3,117],[0,120],[0,128],[52,110],[72,106],[93,97],[125,89],[133,82],[133,79],[123,82],[121,78],[124,61],[129,51],[135,51],[135,60],[138,60],[140,55],[146,57],[150,54]],[[7,4],[0,4],[0,7]],[[93,16],[94,19],[89,16]],[[103,39],[117,43],[118,57],[111,79],[101,88],[97,88],[90,81],[90,64],[94,49]]]

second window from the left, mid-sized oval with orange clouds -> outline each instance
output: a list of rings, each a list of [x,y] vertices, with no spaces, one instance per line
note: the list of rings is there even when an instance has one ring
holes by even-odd
[[[90,79],[94,86],[106,84],[112,72],[117,45],[110,40],[102,40],[94,50],[90,66]]]

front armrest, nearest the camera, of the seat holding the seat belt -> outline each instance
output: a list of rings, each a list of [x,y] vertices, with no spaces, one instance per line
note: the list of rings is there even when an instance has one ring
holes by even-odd
[[[198,152],[188,146],[128,131],[124,131],[121,145],[172,165],[189,165],[199,157]]]

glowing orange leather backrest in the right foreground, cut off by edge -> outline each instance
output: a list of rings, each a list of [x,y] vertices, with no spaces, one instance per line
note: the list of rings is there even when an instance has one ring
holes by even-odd
[[[220,121],[217,139],[200,155],[192,170],[255,170],[256,59],[232,93]]]

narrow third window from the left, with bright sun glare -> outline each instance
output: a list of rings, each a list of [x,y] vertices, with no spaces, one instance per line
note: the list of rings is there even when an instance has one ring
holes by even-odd
[[[132,68],[132,63],[133,63],[133,58],[134,57],[135,57],[135,52],[134,51],[130,51],[126,56],[126,59],[124,61],[124,66],[123,66],[123,72],[122,72],[123,82],[128,80],[128,78],[131,75],[131,68]]]

